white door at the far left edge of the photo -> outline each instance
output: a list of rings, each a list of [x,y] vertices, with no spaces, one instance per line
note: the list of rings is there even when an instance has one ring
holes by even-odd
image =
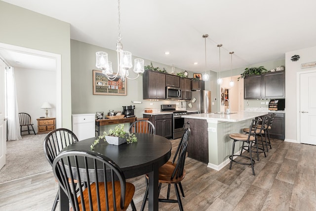
[[[5,164],[6,154],[6,121],[5,118],[5,68],[0,62],[0,169]]]

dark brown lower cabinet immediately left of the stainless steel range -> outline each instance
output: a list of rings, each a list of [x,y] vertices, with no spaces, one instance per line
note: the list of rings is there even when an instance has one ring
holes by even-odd
[[[167,115],[148,115],[143,114],[144,118],[148,118],[156,128],[156,135],[165,138],[172,137],[172,114]]]

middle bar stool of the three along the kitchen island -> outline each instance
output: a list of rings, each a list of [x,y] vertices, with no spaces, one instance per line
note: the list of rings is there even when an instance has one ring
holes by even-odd
[[[255,141],[255,145],[256,145],[256,148],[257,148],[257,150],[256,150],[256,152],[257,152],[257,160],[259,161],[259,153],[264,153],[264,155],[265,155],[265,157],[267,157],[267,155],[266,155],[266,150],[265,150],[265,147],[264,147],[264,145],[263,145],[263,134],[265,134],[265,142],[267,142],[267,135],[266,135],[266,133],[264,132],[264,128],[266,128],[266,127],[268,127],[268,117],[267,116],[263,116],[262,117],[262,119],[261,118],[258,118],[258,125],[257,125],[257,128],[255,129],[254,127],[255,126],[253,126],[253,127],[250,127],[251,128],[251,130],[256,130],[256,135],[255,135],[255,137],[256,137],[256,141]],[[259,123],[261,122],[261,125],[259,125]],[[260,127],[260,128],[259,128]],[[249,133],[249,131],[250,131],[250,128],[243,128],[242,129],[242,131],[243,132],[245,132],[246,134],[247,133]],[[253,131],[252,131],[253,132]],[[260,136],[261,137],[261,144],[262,144],[262,148],[259,148],[258,147],[258,136]],[[248,146],[245,146],[245,147],[248,147]],[[244,148],[244,143],[242,143],[242,147],[241,147],[241,153],[242,153],[242,150],[250,150],[251,149],[251,147],[249,147],[248,149],[245,149]],[[260,152],[259,152],[259,149],[261,150]],[[252,151],[252,152],[254,152],[254,151]]]

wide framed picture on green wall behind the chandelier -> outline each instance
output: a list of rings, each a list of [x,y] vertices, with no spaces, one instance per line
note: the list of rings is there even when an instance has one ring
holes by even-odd
[[[114,75],[116,73],[113,73]],[[92,71],[93,94],[96,95],[127,95],[126,81],[122,82],[118,76],[115,80],[110,81],[102,74],[100,70]]]

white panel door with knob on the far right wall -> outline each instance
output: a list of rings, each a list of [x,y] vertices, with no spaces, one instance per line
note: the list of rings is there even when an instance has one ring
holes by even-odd
[[[300,74],[300,142],[316,145],[316,72]]]

